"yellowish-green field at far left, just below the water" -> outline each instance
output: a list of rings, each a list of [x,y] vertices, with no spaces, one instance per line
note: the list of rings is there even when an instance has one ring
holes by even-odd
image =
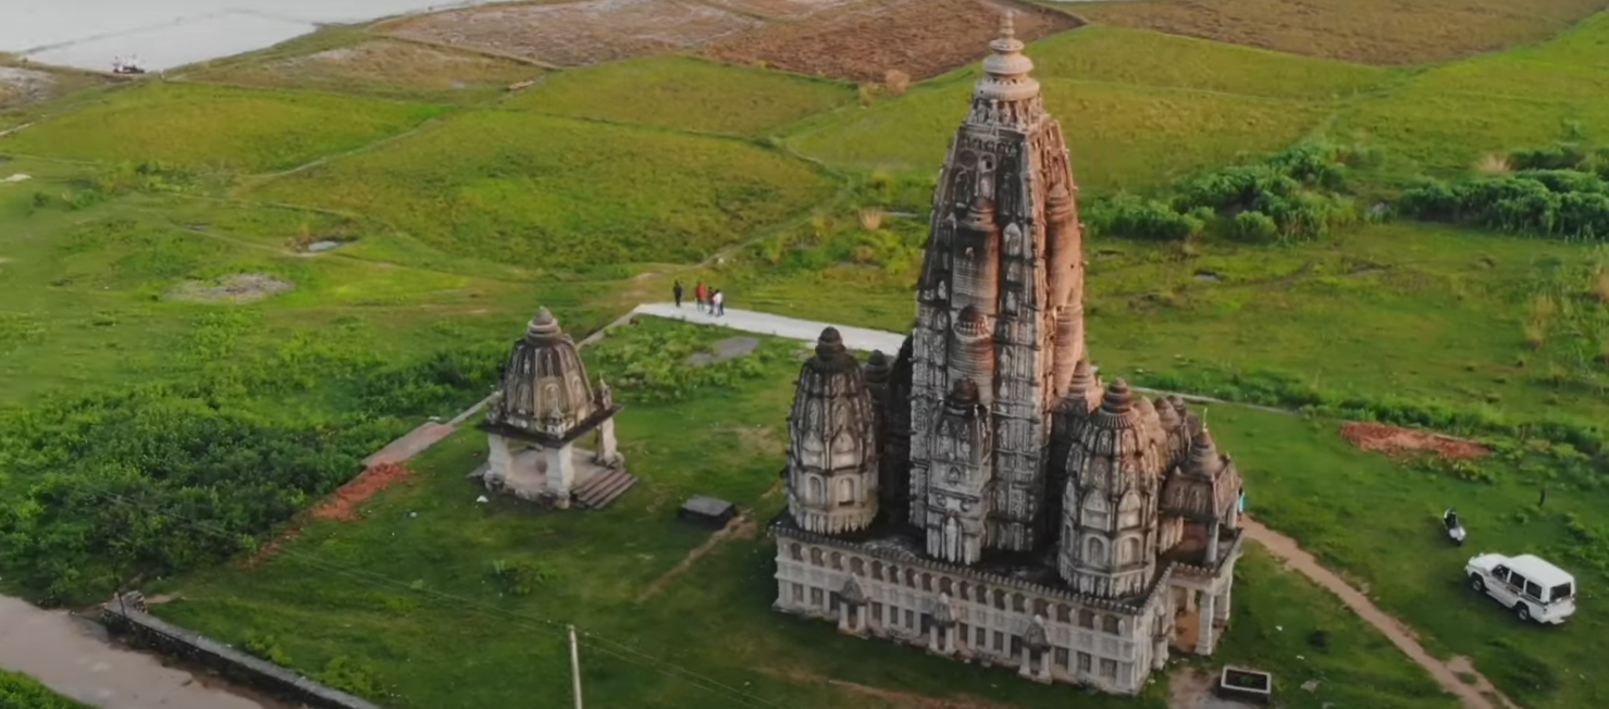
[[[142,82],[51,116],[6,140],[21,154],[97,162],[161,161],[265,172],[359,148],[439,116],[442,106]]]

